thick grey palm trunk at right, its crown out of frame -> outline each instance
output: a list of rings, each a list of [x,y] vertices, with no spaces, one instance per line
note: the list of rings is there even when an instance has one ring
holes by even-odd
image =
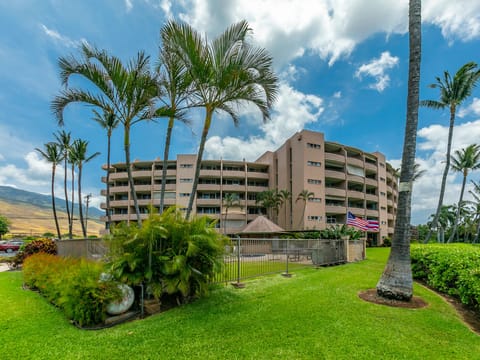
[[[377,283],[377,294],[385,298],[409,301],[413,295],[410,262],[410,219],[412,185],[417,144],[420,61],[421,61],[421,0],[409,1],[409,66],[407,116],[403,141],[402,170],[398,187],[398,208],[392,247],[385,269]]]

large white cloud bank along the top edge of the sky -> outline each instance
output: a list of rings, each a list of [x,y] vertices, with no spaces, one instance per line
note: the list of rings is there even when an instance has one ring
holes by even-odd
[[[407,0],[185,0],[179,17],[209,37],[246,19],[254,39],[284,66],[307,51],[332,65],[355,46],[377,34],[404,34]],[[480,2],[426,0],[423,21],[442,29],[448,39],[480,37]]]

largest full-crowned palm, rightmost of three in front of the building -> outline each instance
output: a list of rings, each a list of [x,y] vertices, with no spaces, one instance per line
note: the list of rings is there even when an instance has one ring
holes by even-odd
[[[207,42],[190,25],[168,22],[162,29],[163,46],[176,53],[192,78],[192,106],[205,108],[195,178],[186,218],[192,211],[197,192],[205,142],[218,111],[239,122],[239,105],[252,103],[264,121],[278,92],[278,79],[272,71],[272,58],[265,49],[247,41],[248,23],[240,21],[225,30],[213,42]]]

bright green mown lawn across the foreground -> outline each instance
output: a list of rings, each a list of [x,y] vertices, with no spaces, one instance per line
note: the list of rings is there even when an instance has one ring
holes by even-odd
[[[3,359],[480,359],[480,337],[436,294],[430,305],[375,305],[357,293],[375,286],[388,249],[361,263],[273,275],[244,289],[219,287],[194,304],[114,328],[68,323],[20,272],[0,273]]]

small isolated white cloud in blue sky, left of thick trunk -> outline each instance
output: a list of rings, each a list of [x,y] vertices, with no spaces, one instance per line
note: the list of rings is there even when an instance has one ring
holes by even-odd
[[[374,84],[370,84],[369,88],[382,92],[390,83],[390,76],[386,74],[398,65],[399,58],[390,55],[390,52],[384,51],[380,58],[372,59],[369,63],[361,65],[355,72],[355,77],[362,79],[363,76],[370,76],[375,79]]]

